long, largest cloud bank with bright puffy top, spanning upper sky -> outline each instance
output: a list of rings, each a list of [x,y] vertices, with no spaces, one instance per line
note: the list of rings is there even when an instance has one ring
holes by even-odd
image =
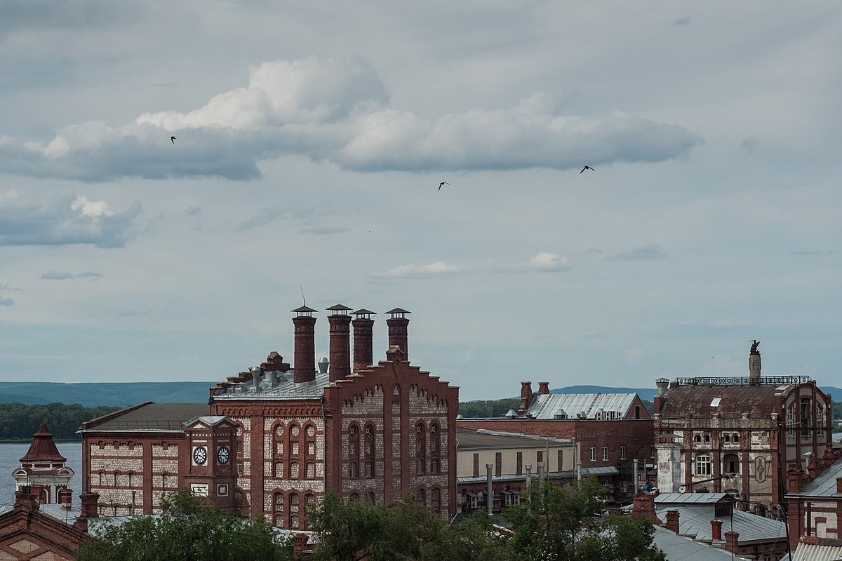
[[[297,155],[356,172],[558,170],[682,156],[701,138],[616,113],[559,114],[534,93],[514,108],[424,117],[387,107],[386,85],[360,58],[310,57],[253,66],[248,85],[186,113],[90,121],[44,143],[0,138],[0,171],[86,182],[122,177],[260,177],[258,162]],[[173,144],[169,136],[177,135]]]

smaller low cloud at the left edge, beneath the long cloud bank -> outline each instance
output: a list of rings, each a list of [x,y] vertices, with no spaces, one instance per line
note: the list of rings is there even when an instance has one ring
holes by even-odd
[[[122,247],[137,236],[142,212],[137,202],[124,212],[115,212],[104,201],[89,201],[74,193],[37,198],[8,191],[0,193],[0,246]]]

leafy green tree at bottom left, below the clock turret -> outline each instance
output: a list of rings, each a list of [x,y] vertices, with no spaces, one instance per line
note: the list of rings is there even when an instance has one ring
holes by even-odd
[[[77,561],[287,561],[292,543],[262,517],[223,511],[180,489],[162,500],[160,516],[133,516],[92,528],[99,537],[79,548]]]

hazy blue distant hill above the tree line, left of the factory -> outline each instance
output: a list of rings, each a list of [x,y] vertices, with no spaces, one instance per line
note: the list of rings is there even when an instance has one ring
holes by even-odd
[[[0,403],[24,405],[66,403],[96,407],[128,407],[155,403],[206,403],[212,382],[115,382],[61,384],[60,382],[0,382]]]

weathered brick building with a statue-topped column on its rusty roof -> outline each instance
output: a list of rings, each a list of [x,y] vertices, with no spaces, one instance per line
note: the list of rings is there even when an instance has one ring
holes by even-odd
[[[807,376],[760,376],[755,341],[747,378],[661,378],[655,433],[662,493],[730,493],[743,508],[781,516],[786,466],[821,457],[832,438],[831,401]]]

